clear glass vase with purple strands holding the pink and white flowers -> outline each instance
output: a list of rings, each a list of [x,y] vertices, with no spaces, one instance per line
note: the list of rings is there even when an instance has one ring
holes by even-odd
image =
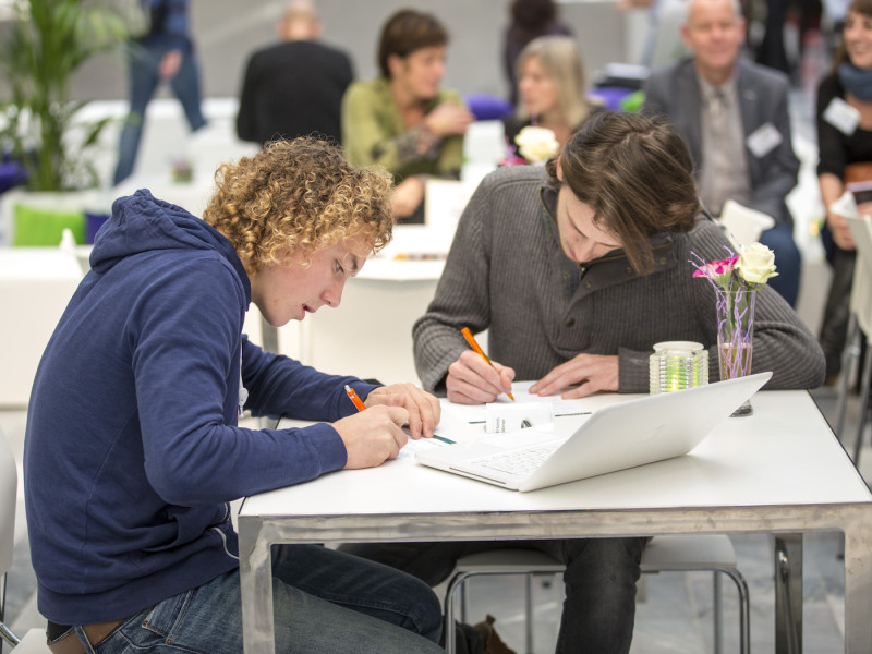
[[[755,299],[756,291],[743,288],[718,293],[717,360],[722,380],[751,374]],[[751,415],[751,413],[753,413],[751,401],[747,400],[732,415]]]

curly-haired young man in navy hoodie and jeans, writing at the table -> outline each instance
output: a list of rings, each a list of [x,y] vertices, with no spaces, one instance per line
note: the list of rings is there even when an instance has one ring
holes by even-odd
[[[203,220],[148,191],[116,201],[28,410],[27,522],[52,652],[241,654],[228,502],[379,465],[405,422],[433,435],[439,404],[420,388],[322,374],[242,335],[250,302],[274,326],[338,306],[392,225],[389,175],[307,138],[223,166]],[[247,429],[243,409],[332,424]],[[276,548],[272,574],[277,652],[441,651],[439,603],[411,577],[305,545]]]

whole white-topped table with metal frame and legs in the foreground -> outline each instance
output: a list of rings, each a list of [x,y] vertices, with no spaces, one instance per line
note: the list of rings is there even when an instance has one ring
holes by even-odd
[[[774,533],[787,550],[787,592],[799,607],[798,534],[841,531],[845,651],[868,654],[872,495],[807,392],[761,392],[752,403],[753,416],[728,419],[688,456],[534,493],[403,458],[246,498],[239,516],[245,653],[275,651],[269,548],[276,543]],[[776,604],[782,652],[787,623],[777,594]]]

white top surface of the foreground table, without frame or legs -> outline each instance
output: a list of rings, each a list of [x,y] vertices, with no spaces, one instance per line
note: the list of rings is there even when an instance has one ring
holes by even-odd
[[[633,396],[610,396],[627,399]],[[598,477],[516,493],[416,464],[407,452],[247,498],[244,516],[366,516],[564,509],[869,502],[869,489],[804,391],[761,391],[691,453]]]

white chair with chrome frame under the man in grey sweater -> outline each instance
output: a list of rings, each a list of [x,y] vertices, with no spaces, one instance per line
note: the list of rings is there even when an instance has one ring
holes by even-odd
[[[739,645],[743,654],[750,652],[750,601],[748,584],[737,567],[736,550],[729,536],[723,534],[691,534],[655,536],[642,554],[643,573],[667,571],[712,570],[714,573],[714,643],[715,653],[722,651],[720,574],[727,574],[739,593]],[[465,582],[481,574],[524,574],[525,591],[525,652],[533,652],[533,576],[564,572],[564,565],[537,549],[494,549],[462,557],[445,595],[446,650],[455,652],[455,615],[459,605],[460,619],[465,621]],[[460,591],[460,598],[458,592]]]

